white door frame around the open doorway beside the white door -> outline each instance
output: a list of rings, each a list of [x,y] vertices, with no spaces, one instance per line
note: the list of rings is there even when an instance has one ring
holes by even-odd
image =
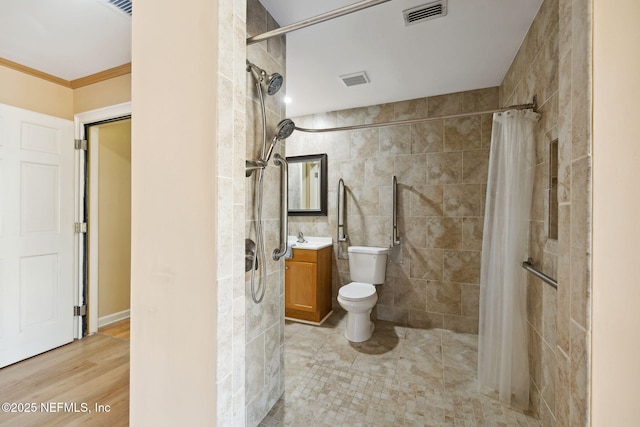
[[[131,116],[131,102],[123,102],[122,104],[116,104],[109,107],[98,108],[96,110],[86,111],[74,115],[74,128],[75,138],[80,140],[86,140],[88,135],[85,135],[85,129],[87,125],[93,123],[103,122],[107,120],[118,119],[121,117]],[[80,151],[80,150],[78,150]],[[86,156],[82,153],[76,153],[76,212],[78,218],[86,218],[85,197],[87,182],[85,180],[85,171],[87,165]],[[93,210],[92,210],[93,212]],[[97,213],[96,213],[97,215]],[[81,302],[87,304],[87,316],[89,317],[89,327],[87,328],[87,335],[91,335],[98,331],[98,232],[97,229],[91,231],[90,246],[91,251],[87,256],[87,249],[85,247],[84,239],[82,235],[79,235],[76,240],[76,259],[78,260],[78,271],[76,275],[76,298],[77,304],[82,305]],[[89,301],[86,300],[84,292],[84,271],[87,267],[85,263],[88,263],[89,275],[87,277]],[[76,324],[76,338],[81,339],[83,336],[82,317],[78,317]]]

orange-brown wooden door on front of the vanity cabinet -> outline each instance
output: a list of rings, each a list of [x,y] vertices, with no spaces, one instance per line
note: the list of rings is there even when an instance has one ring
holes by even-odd
[[[316,274],[318,265],[311,262],[287,261],[285,263],[285,307],[315,312]]]

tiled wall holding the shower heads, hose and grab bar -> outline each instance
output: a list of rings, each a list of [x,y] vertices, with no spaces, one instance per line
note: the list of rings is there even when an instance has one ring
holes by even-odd
[[[257,35],[277,28],[277,23],[268,14],[258,0],[247,1],[246,36]],[[243,35],[242,43],[244,44]],[[273,38],[261,43],[246,47],[246,59],[264,69],[267,73],[280,73],[285,76],[285,38]],[[240,60],[238,58],[238,60]],[[244,57],[242,59],[244,61]],[[243,155],[247,159],[257,159],[262,150],[262,113],[256,89],[255,74],[244,70],[246,86],[242,95],[246,96],[246,152]],[[286,76],[285,76],[286,85]],[[239,89],[237,89],[239,91]],[[246,95],[244,95],[246,93]],[[271,141],[277,123],[284,116],[283,87],[274,96],[266,95],[267,118],[267,142]],[[277,152],[282,152],[278,147]],[[273,158],[272,158],[273,159]],[[243,176],[244,176],[244,162]],[[234,188],[234,193],[244,195],[246,193],[245,237],[256,240],[257,226],[257,199],[256,191],[257,173],[251,178],[243,178],[239,188]],[[283,261],[273,261],[271,254],[280,244],[280,170],[271,165],[265,170],[263,183],[263,224],[265,235],[265,260],[267,266],[266,292],[263,301],[256,304],[251,297],[250,273],[243,273],[245,283],[245,314],[246,314],[246,370],[245,398],[246,398],[246,423],[254,426],[260,423],[269,412],[273,404],[284,392],[284,276]],[[240,192],[241,189],[244,191]],[[244,239],[243,239],[244,242]],[[242,254],[244,259],[244,252]],[[259,276],[258,270],[256,277]],[[255,288],[259,294],[260,283],[255,281]]]

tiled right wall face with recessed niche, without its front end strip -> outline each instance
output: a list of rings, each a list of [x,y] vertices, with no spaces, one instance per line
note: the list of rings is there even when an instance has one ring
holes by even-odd
[[[548,239],[550,144],[558,138],[558,2],[545,1],[505,76],[501,104],[538,97],[536,168],[530,214],[529,256],[534,266],[557,277],[558,242]],[[557,291],[528,275],[527,317],[532,409],[554,425]]]

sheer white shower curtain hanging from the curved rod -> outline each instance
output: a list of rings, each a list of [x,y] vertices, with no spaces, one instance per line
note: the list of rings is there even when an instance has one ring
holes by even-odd
[[[526,271],[540,116],[510,110],[493,116],[480,274],[478,388],[501,403],[529,407]]]

